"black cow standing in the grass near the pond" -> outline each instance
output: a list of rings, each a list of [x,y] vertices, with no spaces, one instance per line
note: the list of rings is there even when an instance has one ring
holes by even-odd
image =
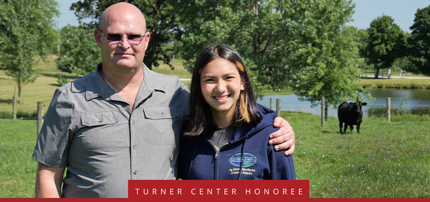
[[[344,132],[347,131],[347,127],[352,129],[354,127],[352,125],[357,125],[357,133],[360,134],[360,124],[363,118],[363,112],[361,111],[361,106],[366,106],[367,103],[361,103],[357,101],[355,103],[342,103],[338,108],[338,118],[339,118],[339,127],[341,127],[340,132],[342,133],[342,125],[345,123]]]

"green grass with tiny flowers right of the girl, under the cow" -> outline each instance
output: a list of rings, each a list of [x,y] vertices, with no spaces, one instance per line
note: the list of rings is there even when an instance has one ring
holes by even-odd
[[[294,128],[297,179],[309,179],[310,197],[430,197],[428,116],[363,118],[361,134],[340,134],[334,117],[321,129],[318,116],[281,116]]]

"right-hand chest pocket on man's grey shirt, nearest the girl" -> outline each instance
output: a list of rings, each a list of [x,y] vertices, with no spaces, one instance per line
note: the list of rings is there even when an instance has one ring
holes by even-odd
[[[175,106],[145,108],[145,138],[149,144],[175,144],[179,140],[181,117]]]

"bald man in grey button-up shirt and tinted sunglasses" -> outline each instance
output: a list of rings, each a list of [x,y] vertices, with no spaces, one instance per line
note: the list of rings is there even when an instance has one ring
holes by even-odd
[[[58,88],[47,110],[33,152],[36,197],[127,197],[129,179],[176,178],[189,90],[142,64],[150,33],[133,5],[106,9],[94,36],[102,63]],[[294,132],[286,121],[281,125],[293,138],[278,132],[270,141],[290,139],[278,146],[291,146],[291,154]]]

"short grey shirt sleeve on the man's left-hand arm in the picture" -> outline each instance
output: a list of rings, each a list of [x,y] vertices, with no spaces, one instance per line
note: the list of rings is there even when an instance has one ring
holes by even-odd
[[[35,160],[51,167],[67,165],[68,150],[72,140],[71,115],[72,105],[67,102],[64,93],[57,89],[37,137],[33,151]]]

